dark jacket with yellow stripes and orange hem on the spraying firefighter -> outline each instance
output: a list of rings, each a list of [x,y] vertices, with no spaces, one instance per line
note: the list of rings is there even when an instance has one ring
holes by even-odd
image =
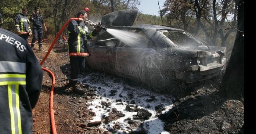
[[[87,39],[94,38],[98,33],[95,29],[89,32],[84,23],[71,20],[68,24],[68,52],[69,56],[89,56],[87,51]]]

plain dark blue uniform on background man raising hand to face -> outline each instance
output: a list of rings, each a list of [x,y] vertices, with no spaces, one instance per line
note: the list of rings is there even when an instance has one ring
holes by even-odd
[[[42,24],[44,24],[44,19],[41,14],[35,15],[33,19],[30,17],[29,20],[33,22],[33,39],[31,43],[31,47],[34,47],[35,40],[38,37],[38,45],[39,47],[42,47],[42,37],[43,37],[43,27]]]

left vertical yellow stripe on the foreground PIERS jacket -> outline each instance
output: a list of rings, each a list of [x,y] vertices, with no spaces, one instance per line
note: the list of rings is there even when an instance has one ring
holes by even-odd
[[[12,90],[11,90],[11,86],[12,86],[11,84],[8,84],[7,90],[8,90],[9,109],[10,109],[10,115],[11,115],[11,130],[12,130],[12,134],[15,134],[15,123],[14,123],[14,111],[12,109]]]

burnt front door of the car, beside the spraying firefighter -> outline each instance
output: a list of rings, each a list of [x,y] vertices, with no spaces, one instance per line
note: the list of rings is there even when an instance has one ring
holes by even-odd
[[[87,62],[91,68],[112,72],[113,62],[115,61],[115,46],[118,39],[114,38],[108,32],[100,35],[93,43],[87,46],[90,57]]]

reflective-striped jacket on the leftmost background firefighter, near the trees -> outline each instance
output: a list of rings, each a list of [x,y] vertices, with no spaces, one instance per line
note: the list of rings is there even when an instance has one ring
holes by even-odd
[[[20,32],[31,32],[29,26],[29,19],[23,13],[19,13],[15,16],[15,27],[17,31]]]

